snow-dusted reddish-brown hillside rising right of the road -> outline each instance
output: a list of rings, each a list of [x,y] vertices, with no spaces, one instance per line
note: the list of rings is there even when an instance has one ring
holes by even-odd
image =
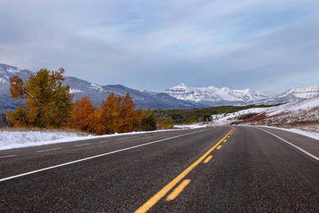
[[[319,97],[277,107],[254,108],[213,117],[214,124],[251,124],[267,126],[308,125],[319,132]]]

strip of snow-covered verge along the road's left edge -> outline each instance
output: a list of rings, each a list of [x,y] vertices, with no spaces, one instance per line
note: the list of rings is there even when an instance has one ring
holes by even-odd
[[[72,141],[82,141],[95,138],[110,138],[114,136],[126,136],[134,135],[140,133],[152,133],[159,131],[179,131],[182,129],[196,129],[203,128],[206,125],[187,125],[187,126],[177,126],[178,129],[170,130],[157,130],[157,131],[138,131],[131,133],[115,133],[112,135],[104,136],[81,136],[80,133],[68,133],[68,132],[50,132],[50,131],[0,131],[0,151],[13,149],[13,148],[23,148],[30,146],[42,146],[52,143],[65,143]]]

